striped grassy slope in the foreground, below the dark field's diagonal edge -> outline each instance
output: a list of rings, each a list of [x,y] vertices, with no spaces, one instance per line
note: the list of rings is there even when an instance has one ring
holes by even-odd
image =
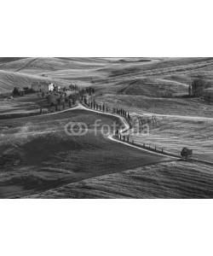
[[[32,198],[212,198],[208,166],[161,163],[51,189]]]

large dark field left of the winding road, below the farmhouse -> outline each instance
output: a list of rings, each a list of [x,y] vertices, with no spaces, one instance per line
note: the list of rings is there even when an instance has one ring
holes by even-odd
[[[143,153],[136,148],[95,136],[95,119],[112,125],[119,119],[83,110],[1,121],[1,197],[29,194],[63,183],[124,171],[169,158]],[[86,136],[67,136],[65,125],[83,121]],[[101,128],[99,128],[101,129]]]

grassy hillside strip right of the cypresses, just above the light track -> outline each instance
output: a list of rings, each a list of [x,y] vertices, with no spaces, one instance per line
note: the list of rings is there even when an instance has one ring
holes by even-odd
[[[124,108],[130,113],[158,113],[171,116],[192,116],[213,118],[213,104],[196,98],[164,98],[133,95],[106,94],[95,97],[99,104],[112,108]]]

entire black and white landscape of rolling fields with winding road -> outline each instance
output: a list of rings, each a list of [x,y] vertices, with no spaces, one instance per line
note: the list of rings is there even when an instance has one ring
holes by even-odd
[[[213,58],[0,58],[1,198],[213,198]]]

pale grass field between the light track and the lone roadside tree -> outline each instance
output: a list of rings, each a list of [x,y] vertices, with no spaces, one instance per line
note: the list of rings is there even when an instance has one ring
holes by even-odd
[[[183,147],[192,148],[193,157],[213,162],[213,119],[158,117],[149,132],[148,137],[133,136],[132,139],[175,154],[180,154]]]

